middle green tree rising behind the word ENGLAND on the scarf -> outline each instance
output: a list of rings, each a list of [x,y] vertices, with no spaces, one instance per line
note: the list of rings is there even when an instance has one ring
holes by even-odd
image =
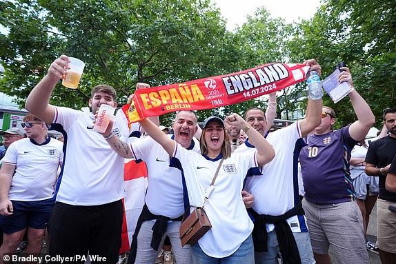
[[[304,59],[289,61],[290,54],[285,40],[291,36],[293,36],[293,27],[290,24],[286,23],[284,19],[273,19],[266,8],[258,8],[254,16],[248,16],[247,22],[235,33],[235,42],[241,49],[241,59],[237,63],[238,68],[253,68],[273,62],[303,63]],[[297,87],[299,86],[302,87],[301,84],[297,85]],[[301,94],[296,92],[295,86],[292,86],[277,92],[277,97],[277,113],[280,114],[282,111],[296,110],[295,101],[301,97]],[[264,100],[266,100],[266,96],[264,96]],[[253,105],[266,108],[266,103],[261,97],[255,101],[250,100],[238,105],[231,105],[229,112],[237,112],[238,109],[246,110]]]

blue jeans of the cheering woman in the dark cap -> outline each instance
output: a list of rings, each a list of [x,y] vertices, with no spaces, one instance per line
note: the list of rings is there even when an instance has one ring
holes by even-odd
[[[192,263],[194,264],[255,264],[255,252],[252,235],[241,243],[236,252],[224,258],[212,258],[201,250],[199,243],[191,246]]]

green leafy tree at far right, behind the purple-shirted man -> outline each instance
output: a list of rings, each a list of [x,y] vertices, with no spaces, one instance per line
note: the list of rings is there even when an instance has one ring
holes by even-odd
[[[346,61],[355,88],[366,99],[381,127],[384,108],[396,105],[396,1],[328,0],[310,21],[295,28],[288,43],[292,59],[316,58],[324,77]],[[356,120],[348,97],[324,104],[338,112],[337,127]]]

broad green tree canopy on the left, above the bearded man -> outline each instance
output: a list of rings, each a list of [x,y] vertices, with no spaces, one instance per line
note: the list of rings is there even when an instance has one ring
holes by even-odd
[[[152,86],[199,79],[222,69],[228,38],[219,10],[209,0],[4,1],[1,87],[19,103],[61,54],[86,62],[79,90],[60,84],[51,103],[79,108],[90,89],[108,83],[121,96],[135,83]]]

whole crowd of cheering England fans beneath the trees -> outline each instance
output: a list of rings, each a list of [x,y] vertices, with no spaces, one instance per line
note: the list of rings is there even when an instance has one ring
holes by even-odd
[[[159,126],[158,116],[132,124],[116,118],[99,133],[92,128],[100,105],[117,108],[110,85],[92,88],[89,112],[49,103],[68,62],[65,55],[52,62],[30,92],[31,114],[23,119],[28,138],[16,128],[4,132],[1,254],[14,254],[25,232],[26,253],[38,254],[49,227],[50,256],[90,254],[101,256],[92,263],[117,263],[124,159],[133,159],[146,163],[148,185],[129,264],[168,264],[172,254],[178,264],[327,264],[329,247],[338,263],[368,263],[367,249],[379,252],[382,263],[396,263],[396,214],[389,210],[396,206],[396,109],[384,110],[383,134],[367,145],[375,116],[353,88],[348,68],[341,68],[338,81],[353,88],[348,97],[357,121],[339,130],[333,130],[335,111],[308,94],[304,119],[268,133],[276,113],[273,93],[266,111],[209,116],[202,127],[196,112],[179,111],[173,134]],[[315,59],[304,63],[321,74]],[[48,137],[48,128],[61,132],[64,143]],[[181,246],[185,210],[204,201],[211,229]],[[375,203],[376,244],[366,239]]]

